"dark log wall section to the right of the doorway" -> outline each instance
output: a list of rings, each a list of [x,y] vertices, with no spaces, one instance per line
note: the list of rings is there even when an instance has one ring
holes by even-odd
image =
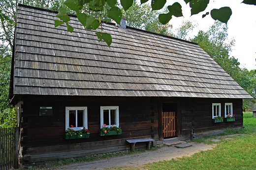
[[[196,134],[243,126],[242,102],[242,99],[187,98],[181,100],[180,110],[182,123],[180,137],[190,136],[192,128],[194,128],[194,133]],[[235,121],[213,123],[212,103],[221,103],[221,116],[223,117],[225,112],[225,103],[232,103]]]

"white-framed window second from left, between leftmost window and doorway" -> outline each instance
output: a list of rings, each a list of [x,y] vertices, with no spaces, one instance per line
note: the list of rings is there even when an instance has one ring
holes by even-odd
[[[106,124],[107,127],[116,125],[119,127],[119,107],[100,106],[100,128]]]

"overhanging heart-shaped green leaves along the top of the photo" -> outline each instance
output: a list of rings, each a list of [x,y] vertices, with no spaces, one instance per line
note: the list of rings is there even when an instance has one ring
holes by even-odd
[[[141,4],[147,2],[148,0],[141,0]],[[191,15],[198,14],[199,12],[202,12],[206,9],[207,5],[209,4],[210,0],[184,0],[186,4],[190,4],[191,7]],[[121,6],[123,8],[123,11],[127,11],[130,7],[136,8],[138,6],[133,5],[133,0],[120,0]],[[136,3],[136,2],[135,2]],[[151,1],[151,8],[152,10],[161,10],[165,6],[166,0],[152,0]],[[251,2],[248,2],[248,0],[244,0],[242,3],[245,4],[252,4]],[[86,28],[86,29],[96,29],[100,25],[102,25],[101,20],[104,17],[111,18],[112,20],[116,21],[117,24],[120,24],[122,16],[124,12],[118,7],[117,0],[66,0],[64,1],[64,4],[73,12],[71,14],[76,14],[78,17],[79,22]],[[133,6],[132,6],[133,5]],[[89,7],[89,8],[88,8]],[[164,7],[165,8],[165,7]],[[88,14],[89,11],[95,11],[100,13],[97,13],[97,15]],[[137,11],[139,13],[139,11]],[[167,13],[166,13],[167,12]],[[220,9],[212,9],[211,10],[211,16],[214,20],[219,20],[221,22],[227,23],[229,20],[232,11],[230,7],[222,7]],[[139,14],[140,15],[140,14]],[[205,17],[206,15],[209,15],[209,11],[207,11],[205,14],[202,15],[202,17]],[[141,15],[143,16],[143,15]],[[167,9],[165,10],[165,13],[159,14],[159,21],[161,24],[167,24],[172,16],[175,17],[182,17],[182,6],[179,2],[175,2],[172,5],[167,6]],[[61,21],[57,21],[55,27],[60,26],[60,24],[66,24],[67,31],[72,32],[73,28],[68,24],[70,21],[69,14],[66,12],[65,8],[60,8],[60,12],[56,15]],[[148,20],[150,18],[147,18]],[[62,22],[62,23],[61,23]],[[154,23],[154,22],[152,22]],[[155,23],[156,25],[156,23]],[[141,25],[140,25],[141,26]],[[112,42],[112,37],[110,35],[106,35],[108,33],[105,33],[105,36],[103,35],[103,29],[101,27],[101,33],[96,33],[99,41],[102,39],[107,43],[107,45],[110,47],[110,44]]]

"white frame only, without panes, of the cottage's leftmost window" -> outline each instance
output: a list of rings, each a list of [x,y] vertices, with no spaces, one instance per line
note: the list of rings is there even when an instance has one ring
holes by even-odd
[[[69,110],[75,110],[76,111],[76,125],[77,125],[77,110],[83,110],[84,111],[84,126],[86,129],[88,129],[88,122],[87,122],[87,107],[66,107],[66,123],[65,123],[65,129],[71,128],[69,127]],[[72,129],[79,131],[82,130],[83,127],[72,127]]]

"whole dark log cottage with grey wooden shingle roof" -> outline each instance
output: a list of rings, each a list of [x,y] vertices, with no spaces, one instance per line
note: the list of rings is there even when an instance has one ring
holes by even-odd
[[[19,5],[10,103],[21,125],[22,162],[129,150],[127,140],[191,139],[243,126],[252,98],[197,44],[103,24],[109,48],[75,16],[72,33],[54,28],[57,12]],[[214,117],[235,114],[234,121]],[[90,137],[65,139],[88,128]],[[100,136],[103,124],[122,134]],[[145,143],[142,143],[143,147]],[[146,146],[146,144],[145,144]],[[135,147],[140,147],[140,145]]]

